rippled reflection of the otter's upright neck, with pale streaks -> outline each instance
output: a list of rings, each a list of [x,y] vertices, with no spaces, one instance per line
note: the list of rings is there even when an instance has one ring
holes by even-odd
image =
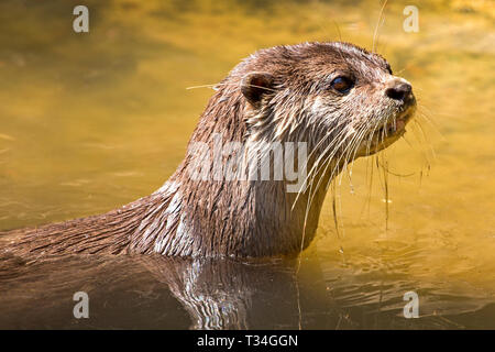
[[[312,302],[321,309],[327,305],[322,287],[299,292],[297,260],[143,256],[139,261],[168,285],[189,314],[191,329],[295,329],[301,324],[302,306]]]

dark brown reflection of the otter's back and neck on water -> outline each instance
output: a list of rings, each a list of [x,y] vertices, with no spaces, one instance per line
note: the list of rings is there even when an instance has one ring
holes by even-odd
[[[73,316],[76,292],[89,319]],[[316,256],[298,273],[297,260],[0,258],[2,329],[332,328],[328,298]]]

